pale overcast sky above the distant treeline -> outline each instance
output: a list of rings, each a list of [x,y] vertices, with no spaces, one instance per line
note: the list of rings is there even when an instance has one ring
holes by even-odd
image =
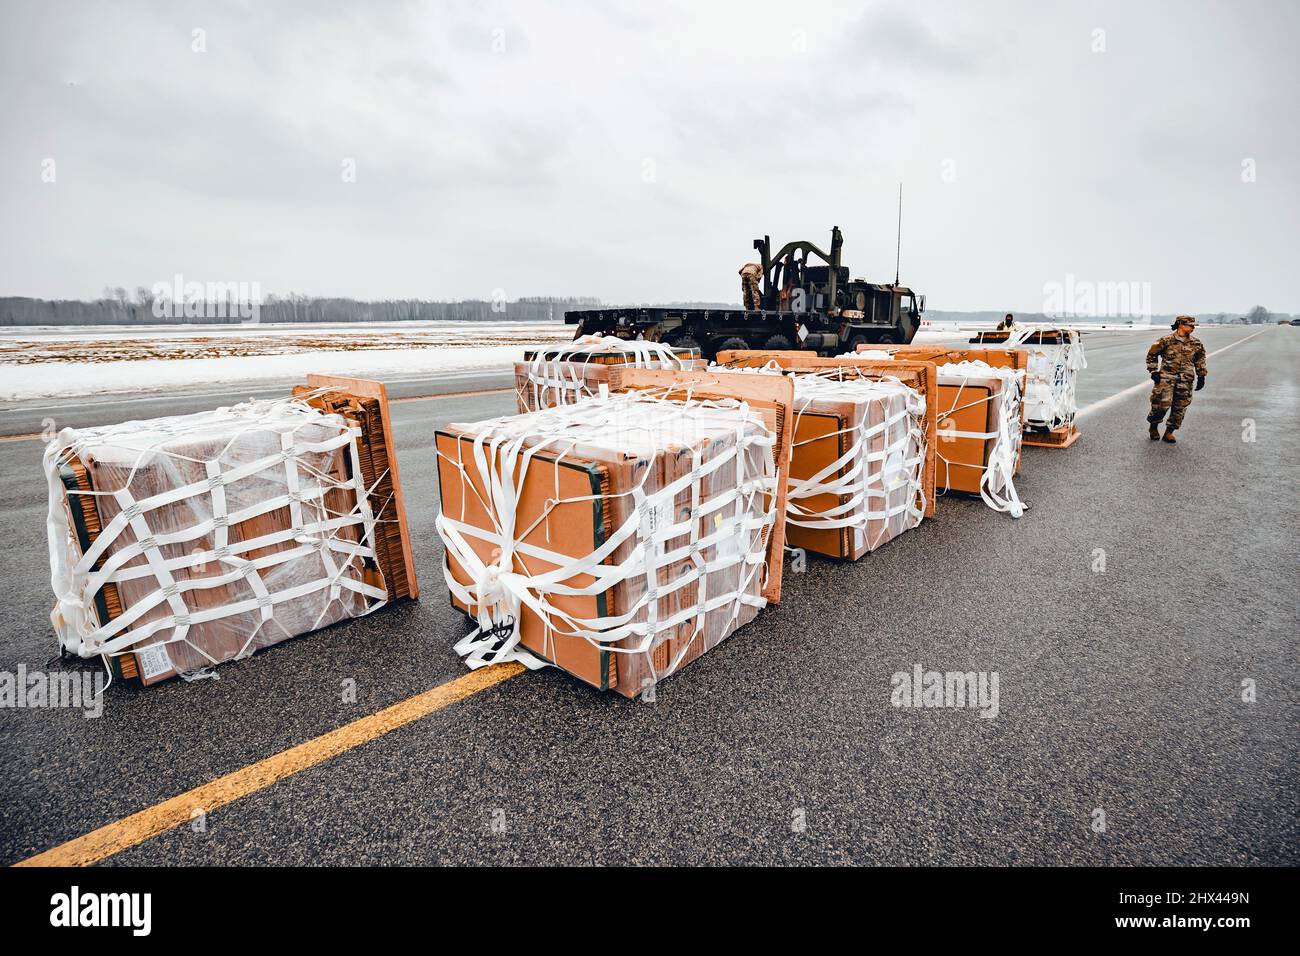
[[[1300,312],[1297,91],[1295,1],[6,0],[0,294],[738,300],[901,179],[931,310]]]

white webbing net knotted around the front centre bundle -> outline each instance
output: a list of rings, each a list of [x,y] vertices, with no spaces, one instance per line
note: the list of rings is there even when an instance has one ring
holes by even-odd
[[[685,388],[685,386],[682,386]],[[529,669],[545,667],[550,662],[529,653],[520,644],[521,611],[536,614],[546,624],[547,649],[555,636],[580,637],[594,648],[642,654],[650,650],[655,636],[679,624],[692,622],[693,632],[668,666],[654,674],[658,680],[676,670],[690,644],[703,640],[705,615],[718,609],[729,609],[729,622],[734,622],[741,607],[763,607],[762,581],[766,572],[767,536],[776,516],[776,471],[772,446],[776,437],[767,429],[757,412],[744,402],[734,401],[663,401],[638,394],[599,397],[575,406],[547,408],[526,415],[481,421],[473,425],[473,459],[462,460],[465,442],[456,442],[452,459],[438,453],[459,473],[462,483],[462,514],[454,518],[438,514],[436,525],[450,555],[473,579],[462,584],[443,562],[443,576],[454,597],[467,607],[473,607],[478,627],[462,639],[455,650],[474,669],[500,661],[519,661]],[[712,449],[702,460],[701,446],[708,434],[720,429],[733,433],[734,441],[722,449]],[[578,446],[618,447],[628,455],[653,458],[670,446],[685,446],[692,454],[692,471],[670,484],[647,488],[654,468],[645,468],[641,480],[628,492],[608,496],[581,496],[560,498],[558,479],[555,496],[542,514],[526,528],[516,527],[520,489],[534,455],[555,460],[556,466]],[[757,449],[762,454],[751,454]],[[703,498],[705,479],[734,462],[734,481],[710,498]],[[468,475],[478,477],[488,499],[485,501]],[[558,468],[555,470],[558,473]],[[611,489],[612,490],[612,489]],[[689,514],[680,520],[673,514],[679,494],[690,496]],[[468,524],[464,502],[474,496],[491,519],[488,531]],[[603,544],[582,558],[573,558],[546,548],[525,544],[533,529],[547,522],[560,503],[614,499],[630,496],[628,518],[608,535]],[[608,502],[607,502],[608,506]],[[703,519],[711,519],[712,528],[701,535]],[[469,544],[469,538],[493,545],[495,561],[485,562]],[[611,559],[619,548],[636,541],[632,550],[615,563]],[[667,544],[680,540],[672,550]],[[714,558],[706,561],[705,550],[714,549]],[[692,567],[671,581],[660,580],[660,570],[677,562],[690,561]],[[545,572],[528,570],[529,562],[554,564]],[[707,576],[716,571],[737,568],[738,585],[716,594],[707,593]],[[519,570],[523,568],[523,570]],[[586,585],[571,581],[580,575],[592,575]],[[638,580],[640,579],[640,580]],[[558,607],[555,596],[594,596],[615,585],[629,581],[644,592],[623,614],[582,619]],[[659,617],[659,601],[686,585],[698,585],[698,600],[670,617]],[[731,624],[728,624],[729,630]],[[627,639],[637,639],[628,646],[614,646]],[[552,654],[554,657],[554,654]]]

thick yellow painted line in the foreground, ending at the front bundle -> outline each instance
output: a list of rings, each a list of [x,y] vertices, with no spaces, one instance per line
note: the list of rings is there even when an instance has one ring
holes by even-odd
[[[233,804],[235,800],[265,790],[286,777],[324,763],[332,757],[347,753],[389,731],[419,721],[421,717],[428,717],[480,691],[486,691],[489,687],[495,687],[523,671],[524,666],[520,663],[499,663],[469,671],[469,674],[439,684],[432,691],[408,697],[369,717],[343,724],[329,734],[322,734],[298,747],[291,747],[225,777],[218,777],[170,800],[133,813],[130,817],[92,830],[84,836],[30,856],[14,866],[90,866],[98,864],[114,853],[121,853],[124,849],[187,823],[192,818],[194,810],[211,813],[220,806]]]

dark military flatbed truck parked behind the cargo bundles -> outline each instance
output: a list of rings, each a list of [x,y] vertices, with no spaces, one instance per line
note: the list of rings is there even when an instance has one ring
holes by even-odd
[[[733,349],[802,349],[824,355],[867,342],[911,342],[926,297],[893,284],[849,278],[840,264],[844,237],[831,232],[831,251],[789,242],[772,255],[771,238],[754,239],[762,287],[745,287],[746,308],[594,308],[564,313],[573,337],[593,333],[698,349],[707,359]],[[815,265],[810,260],[820,260]]]

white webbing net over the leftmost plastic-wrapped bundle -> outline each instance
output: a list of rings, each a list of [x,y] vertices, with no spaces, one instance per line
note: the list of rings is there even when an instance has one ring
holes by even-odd
[[[238,628],[256,619],[234,656],[243,657],[266,643],[382,606],[386,592],[360,580],[363,561],[374,558],[377,518],[369,503],[370,489],[361,480],[359,434],[360,429],[350,428],[342,416],[302,401],[247,402],[198,415],[62,429],[46,449],[44,470],[56,601],[51,620],[64,652],[108,658],[131,653],[133,645],[161,633],[147,645],[150,649],[183,643],[200,659],[216,665],[231,658],[218,659],[187,641],[191,628],[222,622],[218,627],[235,628],[238,639],[243,637]],[[192,450],[204,440],[212,442],[214,453],[194,457]],[[350,458],[351,479],[322,471],[325,462],[337,460],[339,449]],[[125,480],[120,486],[90,492],[66,488],[60,466],[73,459],[107,463],[113,475],[121,473]],[[150,476],[148,490],[155,493],[138,497],[142,483],[136,479],[144,475]],[[165,490],[156,492],[160,486]],[[326,494],[334,489],[344,493],[350,510],[328,507]],[[99,501],[110,499],[107,507],[116,511],[84,553],[77,545],[65,496],[83,496],[84,503],[96,510]],[[251,496],[255,499],[250,501]],[[280,509],[287,509],[290,527],[250,540],[230,540],[231,525]],[[151,527],[155,520],[166,529]],[[260,554],[246,557],[250,551]],[[211,572],[209,563],[217,574]],[[192,568],[204,574],[192,575]],[[136,601],[127,602],[124,596],[122,613],[100,620],[96,596],[109,584],[118,585],[120,594],[127,585],[131,593],[155,587]],[[239,600],[208,604],[218,588]],[[320,592],[325,593],[313,620],[316,605],[304,611],[300,600]],[[195,598],[194,605],[187,598]],[[290,632],[277,619],[277,606],[295,601],[296,619],[304,626]],[[170,614],[151,614],[155,609]],[[250,617],[239,622],[239,615]],[[151,619],[136,624],[143,617]],[[278,627],[283,633],[270,640],[263,636],[255,645],[266,627]]]

